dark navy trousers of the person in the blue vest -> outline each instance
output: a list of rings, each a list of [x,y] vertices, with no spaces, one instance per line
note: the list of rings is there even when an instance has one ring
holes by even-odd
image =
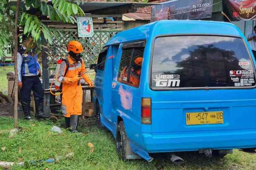
[[[43,102],[43,88],[39,76],[23,76],[22,77],[22,88],[21,101],[30,103],[31,90],[33,91],[34,99],[39,103]]]

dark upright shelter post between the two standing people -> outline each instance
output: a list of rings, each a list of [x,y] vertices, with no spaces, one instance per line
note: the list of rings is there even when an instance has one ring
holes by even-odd
[[[42,63],[43,63],[43,89],[49,89],[48,60],[47,60],[47,41],[42,34]],[[50,114],[50,93],[44,93],[43,112]]]

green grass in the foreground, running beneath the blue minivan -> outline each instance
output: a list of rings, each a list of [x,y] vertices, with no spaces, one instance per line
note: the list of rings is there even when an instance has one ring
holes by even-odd
[[[62,120],[63,121],[63,120]],[[0,129],[11,129],[12,118],[0,117]],[[57,123],[59,125],[60,122]],[[113,136],[107,130],[96,127],[82,129],[86,135],[79,135],[65,131],[61,134],[51,132],[53,123],[50,121],[19,121],[23,127],[14,138],[7,134],[0,136],[0,161],[19,162],[24,160],[25,166],[14,166],[15,170],[255,170],[256,154],[248,154],[234,150],[233,154],[223,159],[206,158],[196,153],[184,152],[178,154],[185,160],[184,165],[174,165],[162,154],[152,162],[132,160],[123,162],[118,159],[115,151]],[[95,146],[90,153],[88,143]],[[65,155],[74,156],[65,158]],[[30,160],[44,160],[61,156],[54,163],[28,163]]]

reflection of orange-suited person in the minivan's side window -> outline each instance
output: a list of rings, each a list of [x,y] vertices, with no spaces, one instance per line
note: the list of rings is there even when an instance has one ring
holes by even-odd
[[[131,67],[128,83],[135,87],[139,87],[139,79],[141,76],[142,60],[143,60],[142,57],[137,57],[134,60],[134,63]],[[124,69],[122,70],[122,73],[120,76],[120,78],[122,79],[121,81],[125,81],[125,78],[127,78],[127,76],[128,76],[128,69],[125,66]]]

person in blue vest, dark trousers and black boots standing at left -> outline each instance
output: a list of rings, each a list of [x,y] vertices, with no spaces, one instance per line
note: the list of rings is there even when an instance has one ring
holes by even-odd
[[[43,113],[43,88],[39,80],[41,69],[37,61],[35,48],[31,45],[33,44],[33,39],[22,36],[22,40],[22,47],[18,50],[18,88],[20,89],[24,118],[31,119],[31,90],[35,99],[35,117],[48,118],[50,115]]]

